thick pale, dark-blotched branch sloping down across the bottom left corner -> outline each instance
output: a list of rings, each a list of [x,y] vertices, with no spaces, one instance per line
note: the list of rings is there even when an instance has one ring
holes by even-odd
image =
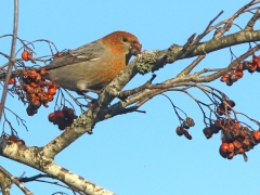
[[[27,147],[15,143],[9,144],[2,151],[2,156],[20,161],[47,174],[63,181],[88,195],[113,195],[114,193],[91,183],[88,180],[73,173],[72,171],[56,165],[52,159],[46,158],[44,153],[39,147]]]

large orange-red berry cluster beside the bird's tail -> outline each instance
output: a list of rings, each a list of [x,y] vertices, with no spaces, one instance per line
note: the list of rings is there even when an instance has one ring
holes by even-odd
[[[46,81],[42,76],[47,74],[44,68],[25,68],[21,72],[21,86],[17,88],[25,92],[25,98],[29,102],[26,108],[29,116],[35,115],[41,105],[48,107],[48,102],[53,101],[53,95],[56,93],[58,86],[52,81]]]

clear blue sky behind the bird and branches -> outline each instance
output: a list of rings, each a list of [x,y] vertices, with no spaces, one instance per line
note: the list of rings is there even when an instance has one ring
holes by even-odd
[[[235,3],[234,3],[235,2]],[[200,34],[221,10],[219,21],[231,16],[248,3],[238,1],[20,1],[18,37],[26,40],[48,39],[58,50],[75,49],[96,40],[115,30],[126,30],[135,35],[143,50],[166,49],[172,43],[183,44],[194,32]],[[0,2],[0,36],[12,32],[13,1]],[[244,27],[250,14],[240,16],[236,24]],[[256,26],[259,29],[259,25]],[[237,27],[232,31],[238,30]],[[208,36],[207,38],[210,38]],[[205,40],[207,40],[207,38]],[[0,39],[0,51],[10,53],[10,38]],[[21,47],[21,46],[20,46]],[[248,44],[232,48],[238,56]],[[46,43],[36,44],[36,53],[49,54]],[[259,53],[257,53],[259,54]],[[154,82],[174,77],[193,58],[176,62],[157,72]],[[0,56],[0,64],[6,61]],[[208,54],[197,67],[224,67],[231,62],[229,50]],[[136,76],[126,89],[144,83],[151,75]],[[221,89],[236,102],[237,110],[259,119],[259,74],[246,73],[244,78],[226,87],[220,81],[210,86]],[[192,90],[197,99],[204,94]],[[196,125],[190,130],[193,140],[176,134],[179,121],[169,101],[162,95],[154,98],[141,107],[146,114],[128,114],[98,123],[92,135],[84,134],[68,148],[58,154],[56,162],[118,195],[157,194],[259,194],[260,147],[256,146],[247,155],[232,160],[219,155],[220,134],[206,140],[203,134],[203,115],[197,105],[182,93],[167,93],[173,103],[194,118]],[[41,107],[34,117],[27,117],[26,106],[17,98],[8,98],[6,106],[20,114],[27,122],[29,131],[18,127],[13,116],[9,116],[16,127],[20,138],[29,146],[42,146],[61,131],[48,121],[53,112]],[[77,110],[79,114],[79,110]],[[249,122],[245,118],[245,121]],[[253,128],[256,125],[250,123]],[[6,129],[6,132],[9,129]],[[27,166],[0,158],[0,165],[15,177],[24,171],[26,177],[40,173]],[[26,186],[37,195],[69,191],[44,183],[31,182]],[[16,187],[13,194],[22,194]]]

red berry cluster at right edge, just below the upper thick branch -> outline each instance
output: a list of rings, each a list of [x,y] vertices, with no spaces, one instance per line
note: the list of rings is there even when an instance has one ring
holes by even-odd
[[[243,77],[243,70],[248,70],[249,73],[258,72],[260,73],[260,56],[252,55],[251,61],[246,61],[236,67],[236,70],[224,74],[220,80],[225,82],[226,86],[232,86],[238,79]]]

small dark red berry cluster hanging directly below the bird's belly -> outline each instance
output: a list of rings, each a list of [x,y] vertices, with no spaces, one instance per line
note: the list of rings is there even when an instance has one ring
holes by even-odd
[[[74,114],[74,109],[64,106],[62,110],[55,110],[48,116],[50,122],[57,125],[60,130],[65,130],[66,127],[72,126],[74,119],[77,116]]]

